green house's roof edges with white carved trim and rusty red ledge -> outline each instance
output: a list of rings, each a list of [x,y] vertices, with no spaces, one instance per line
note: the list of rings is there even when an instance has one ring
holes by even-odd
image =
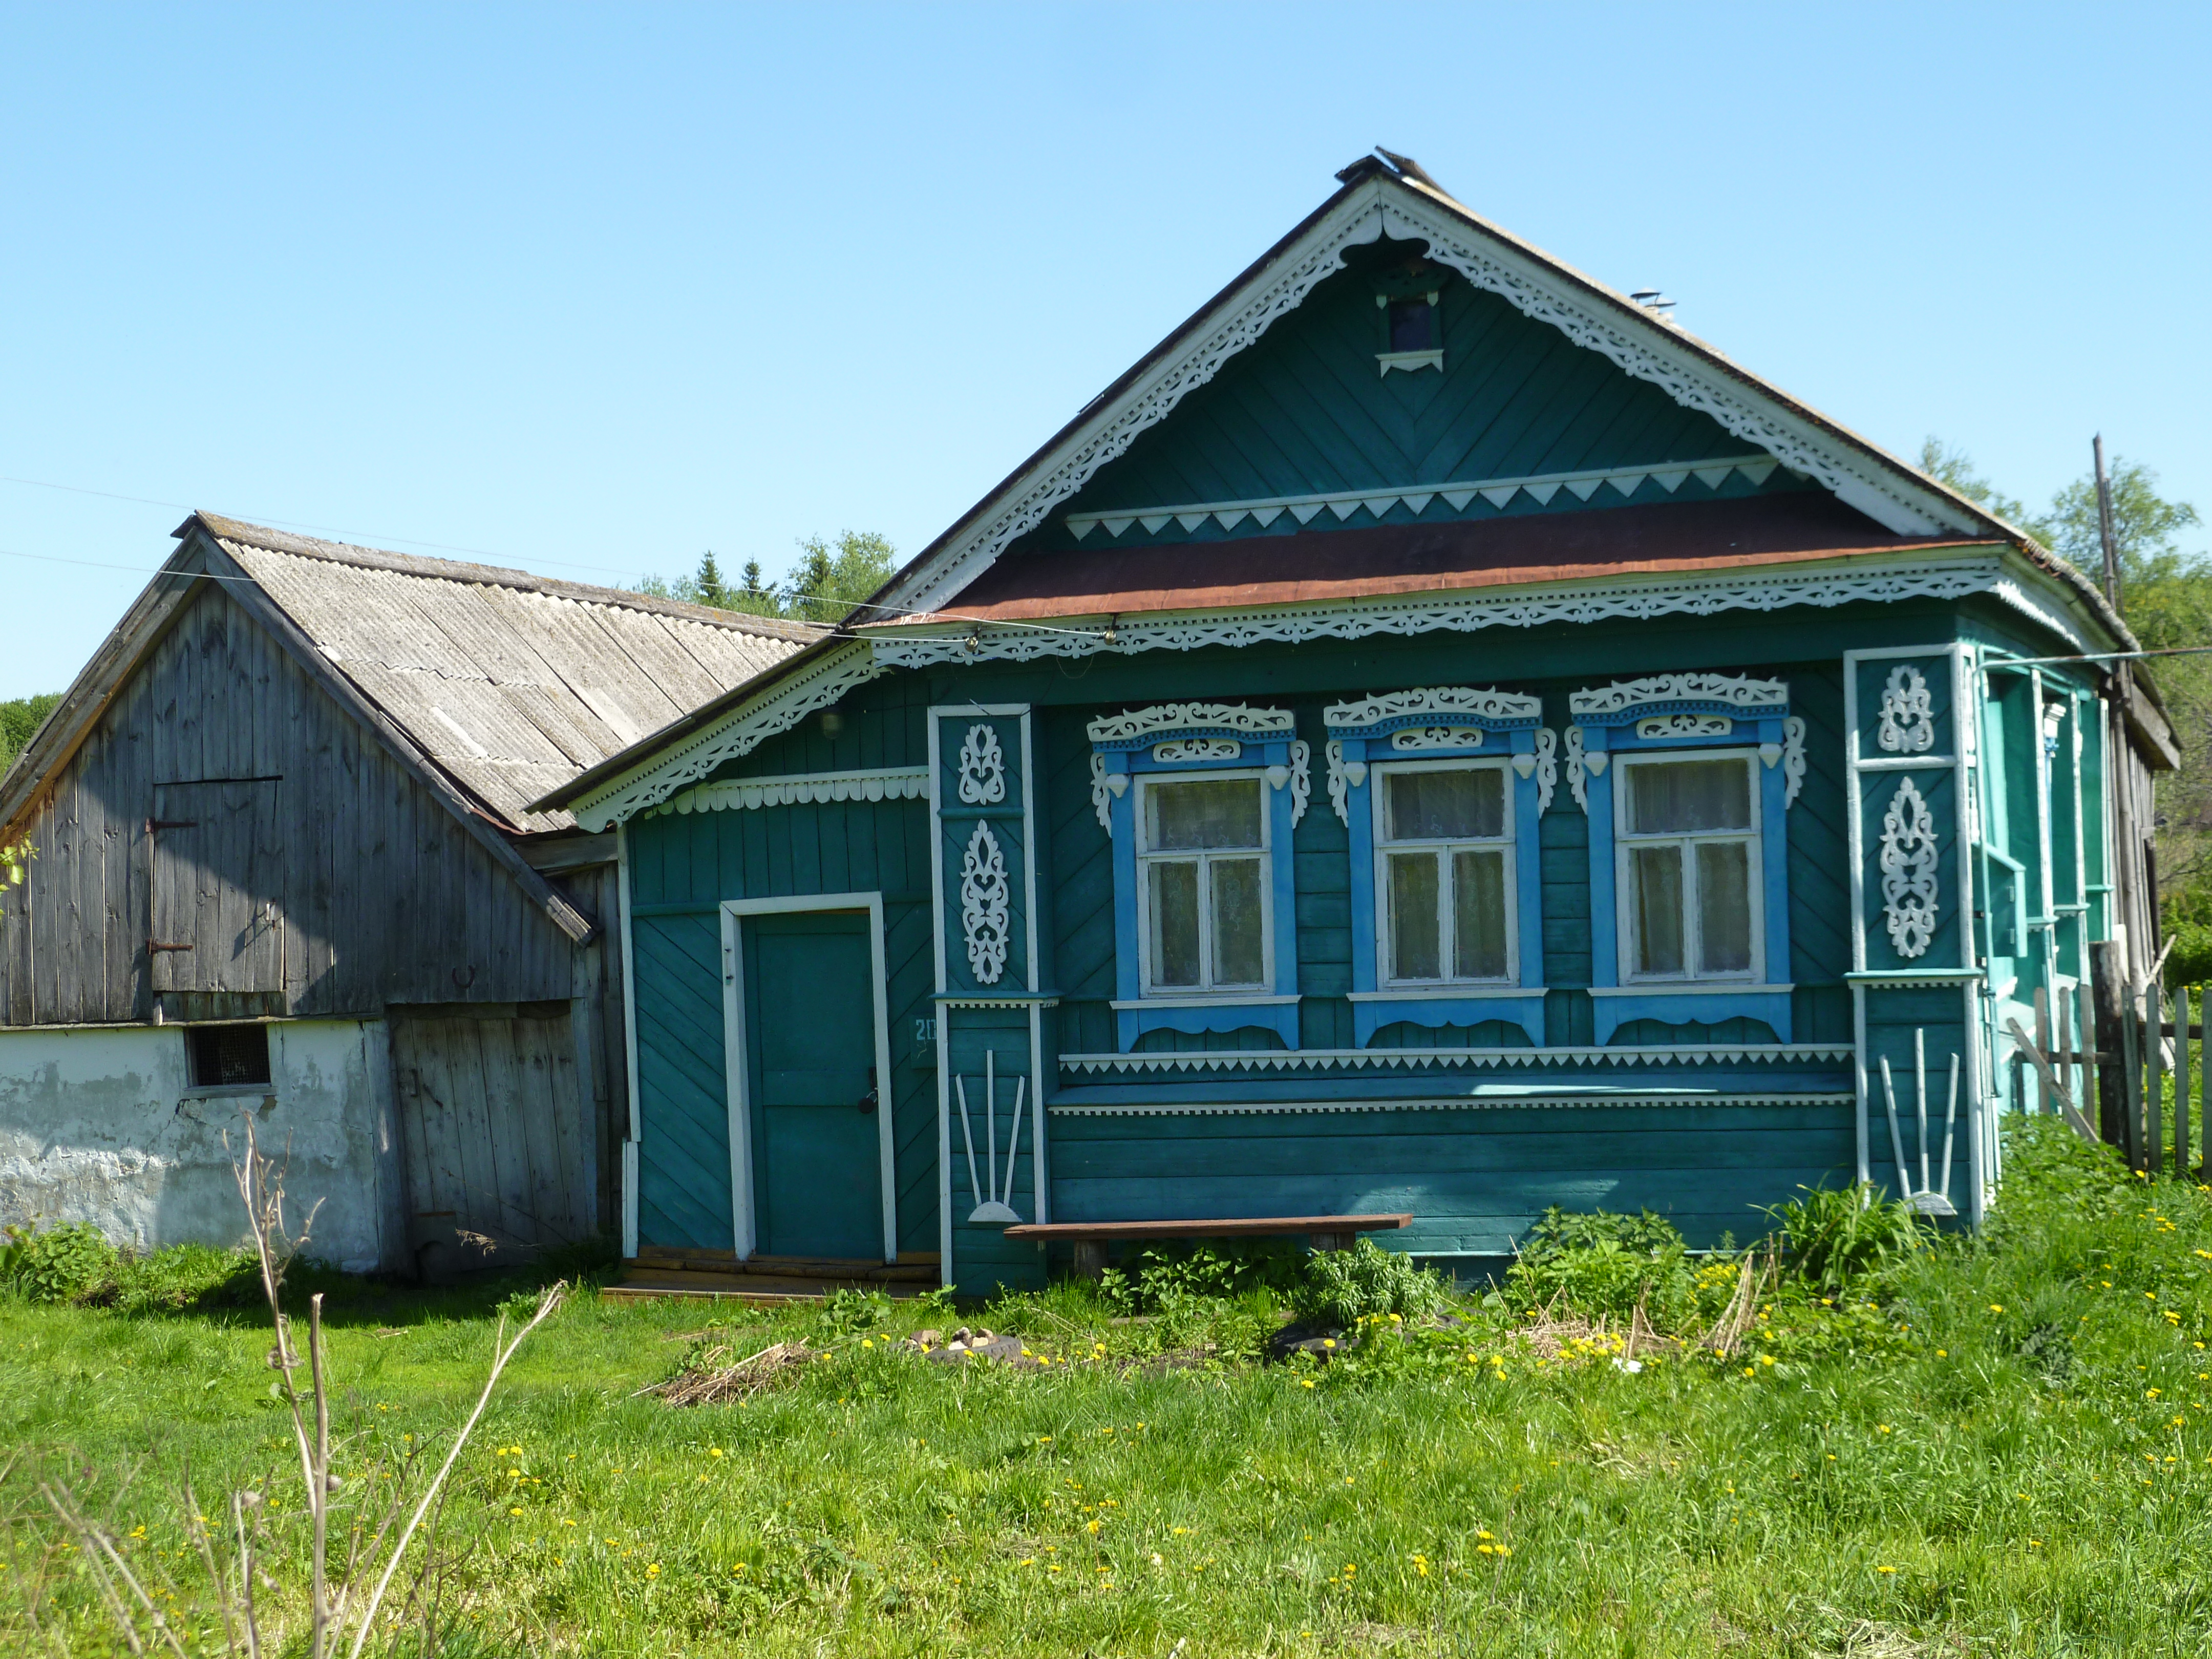
[[[1628,294],[1482,219],[1409,157],[1363,157],[1336,179],[1327,201],[1086,403],[830,639],[695,708],[653,741],[577,774],[535,805],[575,807],[582,823],[602,827],[666,801],[894,666],[1966,593],[1995,593],[2084,650],[2095,648],[2097,635],[2135,646],[2104,593],[2070,562]],[[1781,462],[1812,489],[1794,500],[1710,502],[1703,520],[1708,504],[1699,502],[1608,504],[1588,515],[1542,520],[1329,526],[1316,535],[1004,560],[1139,434],[1340,272],[1347,250],[1383,239],[1425,243],[1429,259],[1473,288],[1557,327],[1573,345],[1661,387],[1756,449],[1730,467]],[[1599,484],[1619,484],[1626,502],[1648,478],[1670,469],[1679,462],[1641,467],[1635,478],[1619,480],[1577,476],[1566,487],[1588,502]],[[1438,489],[1480,493],[1506,482],[1557,487],[1562,480],[1458,480]],[[1385,495],[1405,498],[1418,513],[1411,502],[1427,502],[1427,489],[1422,482]],[[1672,487],[1661,482],[1661,489]],[[1646,489],[1641,500],[1648,498]],[[1250,507],[1203,502],[1150,511],[1214,515],[1230,529]],[[1336,518],[1347,511],[1338,509]],[[1371,504],[1371,511],[1383,507]],[[1728,553],[1714,542],[1692,546],[1686,535],[1699,524],[1747,531],[1752,546]],[[1770,568],[1745,582],[1730,575],[1739,564]],[[1590,595],[1593,586],[1621,586],[1621,577],[1632,580],[1626,593]],[[1641,577],[1659,582],[1646,591],[1635,584]],[[1394,593],[1416,597],[1396,606],[1376,599]],[[1363,604],[1374,613],[1318,619],[1312,615],[1316,602]],[[1139,613],[1166,619],[1150,626]]]

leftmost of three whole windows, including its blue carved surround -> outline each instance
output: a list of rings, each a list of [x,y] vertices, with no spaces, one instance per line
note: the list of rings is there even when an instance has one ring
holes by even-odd
[[[1296,860],[1307,743],[1287,708],[1161,703],[1091,721],[1113,841],[1115,1033],[1274,1031],[1298,1046]]]

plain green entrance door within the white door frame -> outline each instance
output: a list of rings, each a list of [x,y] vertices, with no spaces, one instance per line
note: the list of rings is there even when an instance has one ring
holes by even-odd
[[[883,1261],[867,916],[748,916],[754,1250]]]

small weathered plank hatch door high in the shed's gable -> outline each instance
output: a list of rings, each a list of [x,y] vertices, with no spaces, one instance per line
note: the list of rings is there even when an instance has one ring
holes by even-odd
[[[283,991],[279,779],[153,790],[155,991]]]

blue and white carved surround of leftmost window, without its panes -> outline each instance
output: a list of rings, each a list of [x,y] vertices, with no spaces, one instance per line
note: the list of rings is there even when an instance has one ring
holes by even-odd
[[[1298,1046],[1296,856],[1292,830],[1312,794],[1312,745],[1287,708],[1245,703],[1157,703],[1091,721],[1091,807],[1113,841],[1115,1040],[1124,1051],[1146,1031],[1274,1031]],[[1267,980],[1259,991],[1155,991],[1144,987],[1146,914],[1137,869],[1141,779],[1256,776],[1265,814]]]

